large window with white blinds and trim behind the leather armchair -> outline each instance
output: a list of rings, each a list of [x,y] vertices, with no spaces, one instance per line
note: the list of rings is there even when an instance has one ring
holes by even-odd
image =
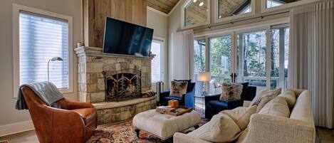
[[[14,87],[50,81],[64,93],[73,92],[71,17],[16,4],[13,8]]]

